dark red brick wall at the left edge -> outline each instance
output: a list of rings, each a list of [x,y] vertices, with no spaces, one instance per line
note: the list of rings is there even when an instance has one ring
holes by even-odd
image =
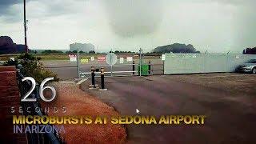
[[[13,134],[10,107],[20,106],[16,69],[0,66],[0,143],[26,143],[25,134]]]

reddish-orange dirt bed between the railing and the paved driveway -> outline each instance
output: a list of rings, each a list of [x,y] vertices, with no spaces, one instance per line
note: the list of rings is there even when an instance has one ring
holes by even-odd
[[[53,106],[58,107],[58,113],[51,110],[48,115],[118,115],[113,107],[101,102],[98,98],[94,98],[84,91],[80,90],[74,84],[54,84],[57,90],[57,98],[54,102],[43,102],[42,107]],[[66,113],[62,113],[62,106],[66,107]],[[65,125],[65,134],[61,137],[67,143],[125,143],[126,129],[121,125]]]

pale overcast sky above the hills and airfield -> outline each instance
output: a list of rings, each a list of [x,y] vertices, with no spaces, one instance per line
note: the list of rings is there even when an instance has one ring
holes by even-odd
[[[0,35],[24,43],[22,0],[0,0]],[[256,46],[255,0],[27,0],[30,49],[150,51],[174,42],[210,52]]]

